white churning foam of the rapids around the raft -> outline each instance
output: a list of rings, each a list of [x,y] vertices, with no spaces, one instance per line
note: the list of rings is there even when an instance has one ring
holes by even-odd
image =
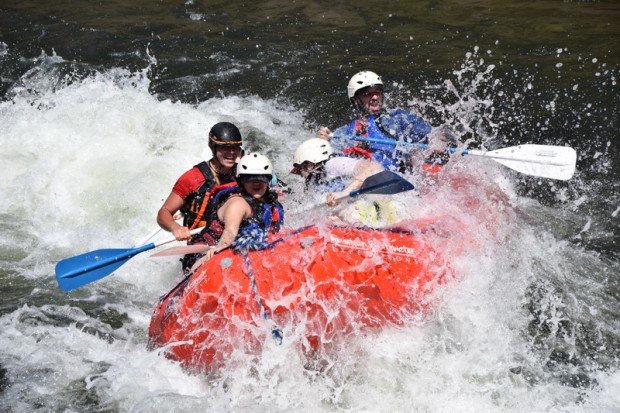
[[[472,87],[489,81],[492,70],[474,76]],[[454,93],[469,93],[452,86]],[[36,96],[21,91],[0,103],[0,213],[17,225],[3,232],[2,245],[37,245],[23,248],[30,254],[23,277],[48,277],[54,286],[59,258],[129,246],[150,232],[176,178],[204,157],[206,132],[215,122],[238,124],[252,136],[257,147],[251,149],[265,151],[287,179],[294,148],[312,137],[294,107],[237,96],[189,105],[160,101],[148,87],[142,74],[111,71],[58,90],[42,87]],[[450,109],[473,125],[468,116],[487,104],[482,96]],[[545,371],[544,355],[533,348],[528,288],[540,279],[569,282],[565,274],[578,265],[567,264],[572,246],[518,219],[513,206],[520,203],[501,168],[463,157],[439,182],[411,177],[419,191],[402,198],[410,218],[449,215],[477,247],[464,249],[460,238],[448,237],[443,248],[460,276],[437,291],[432,310],[405,328],[360,335],[326,356],[322,370],[300,353],[304,330],[298,325],[286,326],[282,346],[266,340],[258,358],[234,354],[214,377],[188,374],[148,351],[151,306],[179,280],[179,264],[142,254],[58,305],[24,306],[0,317],[1,360],[11,383],[4,403],[14,410],[31,410],[37,402],[71,410],[68,401],[81,391],[124,411],[613,411],[616,372],[597,372],[598,386],[581,392],[584,401]],[[474,171],[470,181],[442,181],[467,171]],[[20,233],[31,238],[24,241]],[[586,258],[592,268],[600,264],[579,257]],[[578,290],[599,293],[586,287]],[[556,298],[549,293],[545,302]],[[128,320],[112,330],[79,310],[78,299],[81,306],[94,302],[126,313]],[[549,325],[564,316],[560,307],[552,309]],[[77,323],[116,339],[88,334]]]

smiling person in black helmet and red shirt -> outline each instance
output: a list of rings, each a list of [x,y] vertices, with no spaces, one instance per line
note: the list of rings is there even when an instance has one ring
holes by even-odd
[[[213,157],[195,165],[176,181],[157,212],[159,226],[172,232],[179,241],[189,240],[188,244],[199,239],[198,236],[192,237],[190,230],[205,225],[210,191],[218,185],[235,181],[236,162],[243,154],[242,144],[241,132],[232,123],[213,125],[209,131],[209,149]],[[183,225],[174,219],[179,210],[183,214]],[[186,271],[193,260],[186,256],[181,262],[183,271]]]

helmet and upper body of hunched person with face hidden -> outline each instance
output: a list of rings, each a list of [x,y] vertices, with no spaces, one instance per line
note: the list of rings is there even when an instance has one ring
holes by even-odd
[[[305,189],[327,193],[328,203],[359,189],[370,175],[383,167],[372,160],[337,155],[325,139],[313,138],[302,142],[295,150],[291,173],[305,179]],[[343,178],[352,178],[345,183]]]

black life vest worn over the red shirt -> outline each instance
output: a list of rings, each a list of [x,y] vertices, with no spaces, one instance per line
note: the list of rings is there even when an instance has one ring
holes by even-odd
[[[200,170],[205,181],[200,188],[185,198],[185,202],[181,207],[183,226],[189,229],[198,228],[206,224],[205,212],[209,203],[210,191],[220,184],[234,182],[233,174],[230,175],[230,178],[228,176],[215,176],[209,163],[206,161],[202,161],[198,165],[194,165],[194,167]]]

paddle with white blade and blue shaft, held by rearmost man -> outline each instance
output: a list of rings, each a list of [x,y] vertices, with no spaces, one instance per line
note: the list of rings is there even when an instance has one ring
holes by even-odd
[[[352,140],[368,143],[380,143],[399,147],[416,147],[427,149],[428,145],[420,143],[405,143],[391,139],[375,139],[351,137]],[[568,146],[533,145],[525,144],[496,149],[493,151],[479,151],[475,149],[447,148],[450,153],[462,155],[482,156],[526,175],[542,178],[559,179],[566,181],[575,173],[577,152]]]

